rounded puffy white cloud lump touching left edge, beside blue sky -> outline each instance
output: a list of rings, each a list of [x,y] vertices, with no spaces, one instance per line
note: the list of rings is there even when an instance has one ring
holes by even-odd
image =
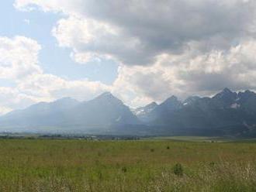
[[[40,74],[38,61],[41,46],[23,36],[0,37],[0,77],[20,81],[29,74]]]

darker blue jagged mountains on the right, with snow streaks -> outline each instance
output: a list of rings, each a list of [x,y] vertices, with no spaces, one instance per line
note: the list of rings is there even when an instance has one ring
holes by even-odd
[[[225,88],[213,98],[189,97],[184,102],[171,97],[147,114],[147,125],[161,132],[200,129],[202,132],[242,133],[256,125],[256,94],[235,93]],[[219,134],[218,133],[218,134]]]

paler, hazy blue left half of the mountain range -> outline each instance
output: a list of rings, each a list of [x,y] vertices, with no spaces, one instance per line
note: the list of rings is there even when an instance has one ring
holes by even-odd
[[[16,130],[111,129],[118,125],[137,125],[139,121],[123,102],[110,93],[92,101],[78,102],[63,98],[51,103],[42,102],[0,118],[0,128]]]

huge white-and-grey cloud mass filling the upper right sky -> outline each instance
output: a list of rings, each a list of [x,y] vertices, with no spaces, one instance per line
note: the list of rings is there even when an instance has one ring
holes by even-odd
[[[78,63],[119,63],[112,91],[126,103],[171,94],[209,95],[223,87],[256,90],[254,0],[16,0],[65,17],[53,29]],[[36,5],[36,7],[35,7]]]

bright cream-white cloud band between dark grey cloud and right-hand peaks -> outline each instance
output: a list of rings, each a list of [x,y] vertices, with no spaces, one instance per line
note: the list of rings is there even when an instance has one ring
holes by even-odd
[[[180,98],[211,95],[223,87],[256,90],[255,51],[256,40],[247,39],[226,51],[161,55],[152,66],[120,67],[114,87],[152,101],[163,101],[171,94]]]

